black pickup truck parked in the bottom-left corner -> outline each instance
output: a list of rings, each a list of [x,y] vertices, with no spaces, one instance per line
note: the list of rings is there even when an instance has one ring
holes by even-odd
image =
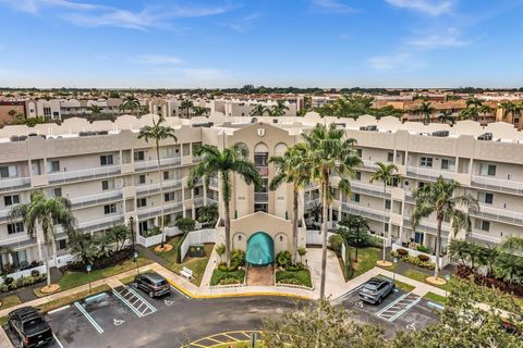
[[[16,333],[21,347],[42,347],[52,339],[51,326],[34,307],[22,307],[8,314],[9,326]]]

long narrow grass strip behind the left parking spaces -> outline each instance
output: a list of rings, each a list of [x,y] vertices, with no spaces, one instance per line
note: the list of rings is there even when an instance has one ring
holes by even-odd
[[[151,263],[151,261],[147,258],[139,256],[137,258],[137,263],[138,263],[138,266],[143,266]],[[88,284],[89,281],[90,282],[99,281],[99,279],[107,278],[109,276],[123,273],[133,269],[136,269],[136,262],[134,262],[133,260],[124,260],[107,269],[94,270],[93,272],[90,272],[90,275],[87,274],[87,272],[66,271],[60,278],[58,284],[60,284],[60,290],[62,291],[62,290],[71,289],[73,287],[77,287],[84,284]],[[34,293],[38,297],[46,296],[40,293],[39,288],[36,288]]]

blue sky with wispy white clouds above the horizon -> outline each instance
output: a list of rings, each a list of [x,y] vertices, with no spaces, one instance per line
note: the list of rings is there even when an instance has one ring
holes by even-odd
[[[0,86],[521,87],[523,0],[0,0]]]

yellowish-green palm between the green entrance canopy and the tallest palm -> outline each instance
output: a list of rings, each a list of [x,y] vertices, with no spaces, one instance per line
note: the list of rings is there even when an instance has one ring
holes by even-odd
[[[276,190],[281,184],[292,184],[292,254],[297,258],[297,209],[299,192],[309,182],[308,167],[305,165],[306,149],[303,144],[289,148],[283,156],[271,157],[270,163],[277,169],[275,177],[270,181],[270,190]]]

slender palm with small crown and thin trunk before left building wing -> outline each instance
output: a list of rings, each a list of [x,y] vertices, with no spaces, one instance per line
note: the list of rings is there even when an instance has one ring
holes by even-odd
[[[139,129],[138,139],[145,139],[146,142],[149,142],[149,139],[155,141],[156,159],[158,161],[158,176],[160,178],[160,195],[163,192],[163,176],[161,175],[160,166],[160,141],[166,139],[173,139],[174,142],[178,142],[178,138],[174,134],[174,129],[170,126],[166,126],[162,123],[165,122],[163,117],[160,117],[158,122],[153,120],[153,126],[145,126]],[[159,227],[161,229],[161,249],[166,243],[166,233],[163,228],[163,197],[160,197],[161,204],[161,215],[159,219]]]

